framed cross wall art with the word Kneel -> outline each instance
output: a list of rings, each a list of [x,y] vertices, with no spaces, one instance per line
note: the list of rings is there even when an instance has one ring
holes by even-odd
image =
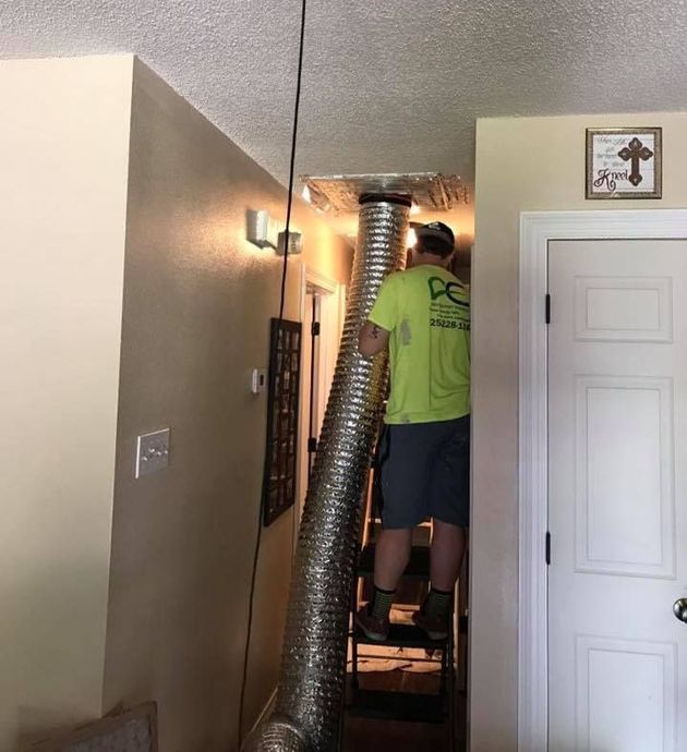
[[[660,128],[587,129],[587,198],[661,198]]]

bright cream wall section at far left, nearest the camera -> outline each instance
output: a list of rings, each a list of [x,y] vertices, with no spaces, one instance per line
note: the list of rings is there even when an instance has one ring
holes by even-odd
[[[0,750],[101,709],[131,57],[0,63]]]

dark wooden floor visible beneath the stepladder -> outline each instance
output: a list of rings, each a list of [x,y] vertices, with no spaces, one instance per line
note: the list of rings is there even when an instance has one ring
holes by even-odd
[[[364,689],[406,692],[434,692],[437,682],[437,677],[433,675],[400,670],[362,674],[360,678],[361,687]],[[457,693],[456,702],[456,752],[465,752],[465,694]],[[448,752],[448,742],[446,725],[383,721],[347,716],[343,728],[343,752]]]

